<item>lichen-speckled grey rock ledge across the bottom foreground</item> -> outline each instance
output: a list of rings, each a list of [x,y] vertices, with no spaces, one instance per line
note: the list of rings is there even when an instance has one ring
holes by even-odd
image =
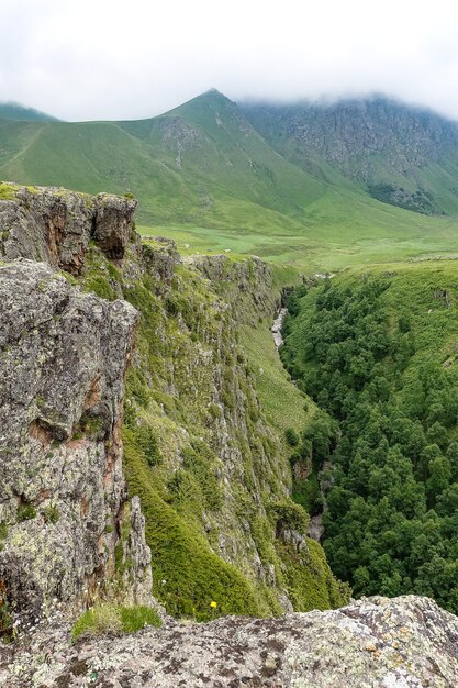
[[[44,648],[47,663],[40,661]],[[456,688],[458,619],[427,598],[369,598],[280,619],[169,623],[69,648],[65,633],[0,655],[9,688]],[[43,655],[42,655],[43,656]],[[89,683],[91,681],[91,683]]]

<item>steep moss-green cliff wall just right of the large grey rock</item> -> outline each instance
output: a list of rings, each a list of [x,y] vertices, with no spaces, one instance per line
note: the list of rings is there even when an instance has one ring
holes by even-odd
[[[92,259],[103,274],[105,258]],[[211,601],[217,613],[255,614],[343,603],[347,591],[304,536],[308,515],[289,497],[281,437],[241,342],[241,326],[260,320],[271,339],[268,266],[224,256],[178,262],[163,240],[121,273],[99,286],[121,287],[142,313],[125,469],[145,509],[155,595],[169,612],[199,620],[212,618]]]

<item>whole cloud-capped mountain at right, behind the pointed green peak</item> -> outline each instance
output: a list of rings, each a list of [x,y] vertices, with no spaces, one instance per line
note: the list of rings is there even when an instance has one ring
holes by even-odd
[[[382,97],[241,109],[276,149],[312,174],[334,180],[338,171],[379,200],[426,214],[458,212],[455,122]]]

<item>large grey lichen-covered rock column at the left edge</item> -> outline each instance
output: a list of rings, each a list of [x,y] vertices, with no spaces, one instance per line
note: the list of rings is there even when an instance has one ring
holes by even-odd
[[[121,531],[142,541],[137,504],[123,528],[121,442],[137,313],[16,260],[0,264],[0,580],[21,615],[78,609],[115,579]],[[141,599],[146,550],[130,559]]]

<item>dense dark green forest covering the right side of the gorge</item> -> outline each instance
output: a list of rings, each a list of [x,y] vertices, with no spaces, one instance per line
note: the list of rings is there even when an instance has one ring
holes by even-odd
[[[453,262],[347,271],[290,295],[282,347],[328,414],[292,463],[312,451],[302,493],[316,497],[329,458],[323,522],[334,574],[356,597],[415,592],[455,613],[457,293]]]

